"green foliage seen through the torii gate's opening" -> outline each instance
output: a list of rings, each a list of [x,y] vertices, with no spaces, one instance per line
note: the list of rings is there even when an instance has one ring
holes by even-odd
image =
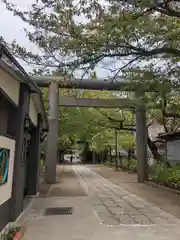
[[[103,91],[61,91],[61,95],[81,95],[91,98],[108,98],[112,93]],[[47,103],[47,89],[44,90],[44,102]],[[46,110],[48,109],[45,104]],[[78,142],[88,142],[90,149],[97,152],[115,148],[115,130],[118,134],[118,146],[126,149],[135,146],[133,131],[122,130],[121,122],[124,126],[132,128],[134,125],[134,114],[131,111],[120,109],[99,109],[99,108],[59,108],[59,136],[60,149],[68,151],[76,146]]]

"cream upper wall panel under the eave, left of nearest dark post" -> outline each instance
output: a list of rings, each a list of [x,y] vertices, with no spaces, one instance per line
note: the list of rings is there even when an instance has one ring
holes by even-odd
[[[0,88],[18,106],[20,83],[0,68]]]

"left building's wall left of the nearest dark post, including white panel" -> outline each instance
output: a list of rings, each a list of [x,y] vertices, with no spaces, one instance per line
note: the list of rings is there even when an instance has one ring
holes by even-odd
[[[19,104],[20,83],[0,68],[0,148],[10,150],[8,181],[0,185],[0,231],[10,222],[10,201],[14,172],[14,112]],[[13,103],[13,104],[12,104]],[[15,107],[16,106],[16,107]],[[9,124],[9,120],[11,123]]]

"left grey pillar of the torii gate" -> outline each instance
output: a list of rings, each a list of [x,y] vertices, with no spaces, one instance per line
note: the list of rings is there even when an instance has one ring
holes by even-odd
[[[58,83],[52,81],[49,85],[49,109],[48,123],[49,132],[47,136],[45,175],[44,180],[48,184],[56,183],[56,165],[58,152],[58,122],[59,122],[59,87]]]

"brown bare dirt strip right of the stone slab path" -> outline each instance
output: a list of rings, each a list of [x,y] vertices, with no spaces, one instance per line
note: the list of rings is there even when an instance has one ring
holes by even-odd
[[[91,166],[91,169],[109,181],[137,195],[162,210],[180,218],[180,192],[164,187],[154,187],[137,182],[137,175],[106,166]]]

